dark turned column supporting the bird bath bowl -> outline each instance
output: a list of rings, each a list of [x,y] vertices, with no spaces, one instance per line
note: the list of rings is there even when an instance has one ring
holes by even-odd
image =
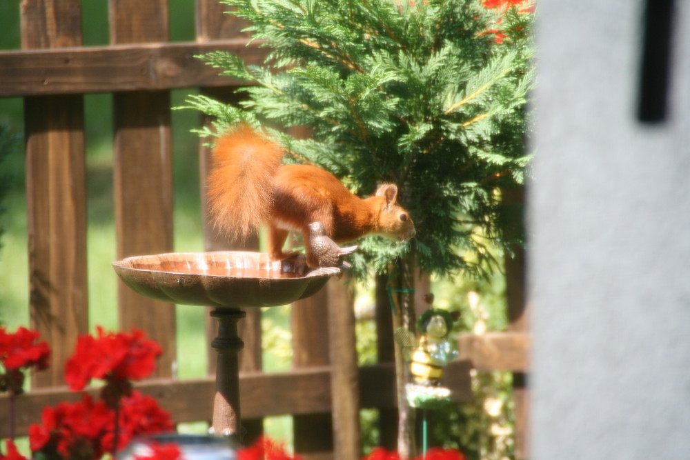
[[[239,308],[215,308],[210,315],[219,323],[218,337],[211,342],[218,352],[218,361],[210,432],[217,436],[234,434],[242,441],[237,353],[244,348],[244,342],[237,336],[237,321],[246,317],[246,312]]]

